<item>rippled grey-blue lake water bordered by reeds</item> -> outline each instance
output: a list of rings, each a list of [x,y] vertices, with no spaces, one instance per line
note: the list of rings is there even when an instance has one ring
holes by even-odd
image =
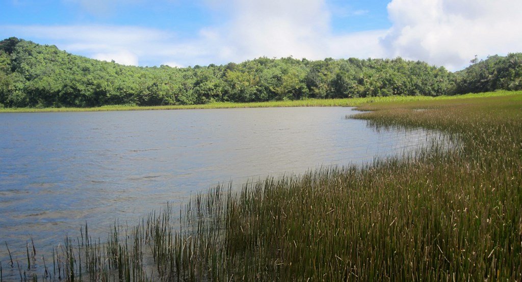
[[[346,107],[0,114],[0,260],[32,235],[38,248],[106,238],[166,202],[218,182],[372,161],[430,133],[375,131]],[[51,259],[49,259],[50,261]],[[5,265],[5,263],[4,263]]]

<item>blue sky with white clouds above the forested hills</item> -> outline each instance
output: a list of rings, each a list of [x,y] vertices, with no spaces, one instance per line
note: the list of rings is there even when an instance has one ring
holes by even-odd
[[[455,71],[522,52],[522,0],[0,0],[11,36],[135,66],[400,56]]]

